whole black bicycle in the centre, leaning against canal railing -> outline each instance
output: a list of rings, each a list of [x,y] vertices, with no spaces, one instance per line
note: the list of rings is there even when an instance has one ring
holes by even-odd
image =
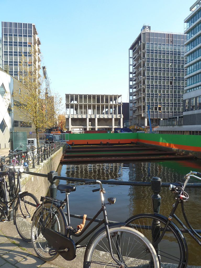
[[[61,255],[66,260],[73,260],[76,257],[76,249],[85,249],[84,268],[92,267],[121,267],[128,268],[137,265],[149,265],[157,268],[159,265],[157,254],[151,243],[140,232],[125,227],[125,223],[108,224],[106,204],[114,204],[116,198],[108,198],[104,202],[103,194],[105,189],[99,180],[86,180],[85,184],[100,184],[101,209],[90,220],[87,226],[73,229],[70,225],[69,199],[70,192],[75,187],[60,184],[57,189],[66,193],[64,201],[42,196],[42,204],[36,209],[33,215],[31,240],[33,248],[38,257],[44,261],[51,261]],[[63,212],[66,205],[67,218]],[[88,233],[74,242],[73,237],[78,238],[85,233],[87,228],[103,212],[103,219],[96,224]],[[99,226],[105,227],[96,232],[88,244],[83,242]],[[84,245],[81,245],[81,242]]]

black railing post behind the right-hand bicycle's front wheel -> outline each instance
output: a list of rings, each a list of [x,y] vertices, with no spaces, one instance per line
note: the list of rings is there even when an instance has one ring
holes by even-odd
[[[160,212],[160,206],[161,206],[161,196],[159,195],[159,192],[161,191],[161,178],[159,177],[153,177],[151,179],[151,189],[153,191],[153,195],[151,196],[151,202],[152,202],[152,210],[153,213],[159,213]],[[151,234],[152,234],[152,244],[154,241],[156,241],[160,236],[160,229],[161,224],[157,220],[152,221],[151,225]],[[159,257],[159,264],[161,267],[161,257],[159,256],[159,245],[154,245],[154,249]],[[152,262],[152,261],[151,261]],[[152,265],[152,263],[151,263]]]

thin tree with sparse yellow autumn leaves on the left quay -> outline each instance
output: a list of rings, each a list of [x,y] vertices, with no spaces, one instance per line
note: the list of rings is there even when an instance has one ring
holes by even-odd
[[[32,54],[32,65],[28,64],[22,55],[19,72],[21,91],[14,95],[14,99],[18,103],[15,109],[22,119],[26,118],[26,121],[35,125],[37,146],[40,146],[38,131],[44,131],[55,125],[62,100],[58,94],[53,96],[47,94],[44,77],[40,75],[40,70],[34,63],[33,48],[30,53]]]

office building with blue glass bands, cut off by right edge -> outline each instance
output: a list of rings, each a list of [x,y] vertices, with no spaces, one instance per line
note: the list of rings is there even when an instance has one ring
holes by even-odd
[[[201,2],[196,1],[190,7],[191,14],[184,20],[184,33],[187,58],[187,85],[184,94],[184,125],[191,125],[191,130],[201,131]],[[192,125],[200,126],[198,129]],[[194,132],[194,131],[193,131]],[[201,133],[201,132],[200,132]]]

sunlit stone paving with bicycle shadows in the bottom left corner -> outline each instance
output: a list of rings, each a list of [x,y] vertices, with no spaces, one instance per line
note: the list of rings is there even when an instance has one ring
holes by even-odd
[[[72,261],[59,256],[44,262],[36,257],[32,244],[21,239],[13,222],[0,222],[0,268],[83,268],[84,250],[77,250],[76,255]]]

